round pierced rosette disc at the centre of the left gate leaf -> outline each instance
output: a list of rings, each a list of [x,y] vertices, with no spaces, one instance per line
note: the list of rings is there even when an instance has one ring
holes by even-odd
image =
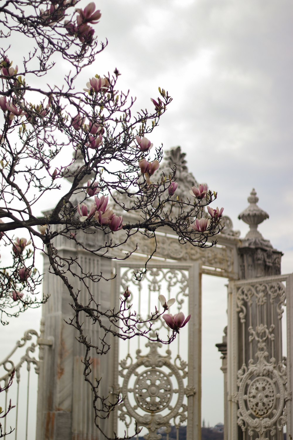
[[[162,411],[172,397],[172,384],[165,372],[156,368],[143,371],[134,383],[134,398],[145,411]]]

